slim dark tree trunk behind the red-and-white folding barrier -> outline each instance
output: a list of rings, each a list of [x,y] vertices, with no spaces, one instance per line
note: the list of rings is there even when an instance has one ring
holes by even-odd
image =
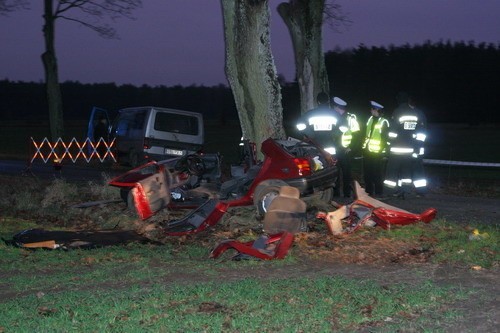
[[[44,26],[43,35],[45,39],[45,52],[42,54],[43,67],[45,69],[45,85],[47,103],[49,106],[50,134],[52,140],[62,137],[64,134],[63,107],[61,87],[59,86],[56,51],[54,47],[54,23],[53,0],[44,0]]]

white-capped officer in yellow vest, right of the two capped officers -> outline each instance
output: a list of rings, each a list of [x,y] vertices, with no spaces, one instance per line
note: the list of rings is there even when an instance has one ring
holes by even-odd
[[[382,198],[389,121],[384,118],[384,107],[375,101],[370,101],[370,112],[363,142],[363,176],[366,193]]]

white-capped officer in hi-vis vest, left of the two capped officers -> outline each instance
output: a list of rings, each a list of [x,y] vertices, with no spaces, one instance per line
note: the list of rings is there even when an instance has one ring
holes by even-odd
[[[357,150],[357,144],[359,143],[360,127],[356,115],[346,111],[347,103],[339,98],[332,98],[333,110],[337,112],[339,116],[339,131],[335,140],[337,141],[337,165],[339,166],[339,171],[341,176],[338,182],[341,180],[342,184],[337,183],[335,196],[340,196],[340,187],[342,187],[342,192],[344,198],[350,198],[352,195],[352,171],[351,171],[351,159],[353,151]]]

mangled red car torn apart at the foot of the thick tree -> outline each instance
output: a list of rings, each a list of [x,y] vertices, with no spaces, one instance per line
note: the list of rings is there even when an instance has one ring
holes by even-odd
[[[166,223],[169,235],[199,232],[217,223],[230,207],[255,205],[263,216],[282,186],[301,196],[319,194],[330,202],[338,176],[336,160],[310,142],[269,138],[262,143],[263,161],[256,162],[254,146],[244,142],[245,165],[222,181],[218,154],[190,154],[149,162],[113,178],[122,198],[141,219],[161,209],[192,209],[184,218]]]

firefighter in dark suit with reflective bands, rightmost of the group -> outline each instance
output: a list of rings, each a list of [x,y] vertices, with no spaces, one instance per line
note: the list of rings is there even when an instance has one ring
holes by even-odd
[[[406,93],[400,93],[398,100],[400,105],[391,118],[390,149],[384,185],[391,189],[394,196],[404,196],[408,186],[415,188],[417,196],[424,195],[427,180],[422,158],[427,119]]]

